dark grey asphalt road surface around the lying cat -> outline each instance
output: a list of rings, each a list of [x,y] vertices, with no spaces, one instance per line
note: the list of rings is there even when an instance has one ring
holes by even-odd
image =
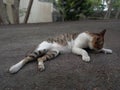
[[[99,32],[106,28],[105,47],[113,54],[89,52],[91,62],[64,54],[45,63],[39,72],[37,62],[27,64],[16,74],[11,65],[44,39],[65,32]],[[0,26],[0,90],[120,90],[120,21],[77,21]]]

